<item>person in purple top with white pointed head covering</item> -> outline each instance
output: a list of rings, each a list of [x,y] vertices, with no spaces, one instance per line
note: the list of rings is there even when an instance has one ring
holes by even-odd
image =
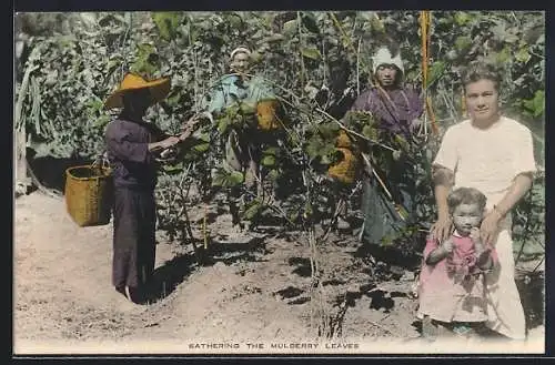
[[[371,112],[381,133],[389,138],[403,136],[408,143],[412,134],[421,125],[423,101],[418,93],[403,87],[403,61],[401,55],[392,54],[387,48],[380,48],[372,58],[375,85],[359,95],[352,111]],[[383,135],[383,134],[382,134]],[[381,178],[393,195],[393,202],[382,193],[383,187],[375,176],[370,174],[364,181],[362,210],[364,212],[363,241],[370,244],[394,240],[411,221],[413,211],[414,182],[406,179],[412,168],[410,156],[392,158]],[[377,168],[377,166],[374,166]],[[402,217],[400,207],[408,213]]]

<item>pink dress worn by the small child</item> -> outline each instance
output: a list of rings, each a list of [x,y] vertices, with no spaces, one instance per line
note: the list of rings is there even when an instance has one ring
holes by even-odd
[[[424,315],[441,322],[484,322],[487,320],[484,273],[476,266],[474,243],[456,232],[453,253],[435,265],[425,263],[437,242],[428,239],[424,249],[418,285],[417,317]],[[494,264],[497,255],[491,251]]]

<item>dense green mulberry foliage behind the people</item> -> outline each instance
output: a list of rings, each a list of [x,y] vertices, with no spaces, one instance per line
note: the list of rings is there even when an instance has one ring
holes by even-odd
[[[330,78],[337,59],[347,61],[347,80],[335,91],[352,88],[357,94],[370,84],[372,52],[394,39],[405,61],[406,82],[422,85],[417,11],[23,13],[17,16],[16,27],[16,105],[21,118],[14,128],[24,123],[27,143],[37,156],[93,158],[101,152],[103,129],[113,116],[102,110],[102,102],[128,70],[150,78],[171,75],[171,94],[150,110],[148,119],[176,131],[182,120],[200,111],[205,91],[226,72],[228,54],[238,44],[254,50],[254,71],[283,91],[299,135],[299,150],[291,155],[301,160],[306,159],[310,128],[329,122],[315,110],[315,95],[322,88],[337,89]],[[532,130],[543,171],[544,13],[434,11],[431,33],[430,77],[423,92],[432,97],[440,133],[430,135],[424,156],[430,160],[445,128],[464,118],[462,68],[487,59],[504,72],[504,109]],[[205,181],[216,159],[204,153],[209,138],[200,139],[196,154],[161,176],[160,226],[170,233],[180,224],[183,229],[186,212],[179,207],[185,201],[194,203],[183,186]],[[426,185],[426,169],[414,179]],[[541,173],[516,210],[515,251],[524,253],[521,257],[543,253],[544,191]],[[423,220],[431,222],[430,190],[424,202],[431,209]]]

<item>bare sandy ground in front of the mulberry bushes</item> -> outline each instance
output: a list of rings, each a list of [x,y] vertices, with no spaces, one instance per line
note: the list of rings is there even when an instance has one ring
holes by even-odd
[[[111,225],[79,227],[63,200],[39,192],[14,204],[14,353],[244,353],[261,351],[246,343],[265,343],[265,352],[269,342],[281,353],[349,353],[418,337],[410,275],[376,283],[349,237],[333,236],[322,249],[323,295],[311,296],[303,242],[238,234],[223,214],[210,226],[218,234],[206,265],[191,247],[160,237],[155,276],[165,295],[135,306],[110,285]],[[326,315],[331,348],[316,338]],[[340,342],[344,347],[333,347]],[[320,345],[278,348],[309,343]],[[408,351],[403,346],[397,351]]]

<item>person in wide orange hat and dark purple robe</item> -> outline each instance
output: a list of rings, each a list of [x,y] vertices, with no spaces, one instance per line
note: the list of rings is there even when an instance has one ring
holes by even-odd
[[[143,121],[147,109],[169,91],[169,79],[148,82],[127,74],[105,102],[107,109],[123,108],[105,130],[114,183],[112,284],[133,303],[145,301],[154,271],[155,156],[191,133],[191,124],[181,135],[172,136]]]

